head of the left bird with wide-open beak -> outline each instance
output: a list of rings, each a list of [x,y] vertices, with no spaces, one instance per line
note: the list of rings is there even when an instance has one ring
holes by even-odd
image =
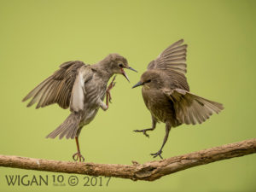
[[[125,68],[130,69],[131,71],[134,71],[134,72],[137,72],[137,71],[128,65],[128,61],[125,59],[125,57],[123,57],[119,54],[110,54],[110,55],[108,55],[108,57],[110,60],[109,63],[110,63],[111,72],[115,73],[115,74],[124,75],[125,79],[127,79],[130,82],[124,69]]]

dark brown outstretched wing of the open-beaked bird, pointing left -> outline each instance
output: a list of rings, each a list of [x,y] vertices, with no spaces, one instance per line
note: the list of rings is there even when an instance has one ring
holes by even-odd
[[[83,66],[85,67],[83,61],[67,61],[61,64],[58,71],[41,84],[38,84],[36,88],[25,96],[22,102],[32,98],[27,107],[31,107],[38,102],[36,108],[44,108],[53,103],[58,103],[61,108],[68,108],[73,85],[77,77],[79,77],[79,69]]]

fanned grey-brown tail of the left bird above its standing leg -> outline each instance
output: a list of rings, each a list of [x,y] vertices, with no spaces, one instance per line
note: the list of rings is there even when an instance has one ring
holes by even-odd
[[[66,136],[67,139],[73,139],[76,137],[77,131],[79,130],[80,119],[80,113],[71,113],[68,115],[67,119],[65,119],[65,121],[55,129],[55,131],[49,133],[46,138],[55,138],[60,135],[60,139],[64,136]]]

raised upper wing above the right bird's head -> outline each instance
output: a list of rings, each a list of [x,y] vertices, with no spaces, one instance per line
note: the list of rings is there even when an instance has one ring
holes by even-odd
[[[170,45],[154,61],[148,64],[148,69],[172,70],[185,74],[187,72],[187,46],[187,44],[183,44],[183,39]]]

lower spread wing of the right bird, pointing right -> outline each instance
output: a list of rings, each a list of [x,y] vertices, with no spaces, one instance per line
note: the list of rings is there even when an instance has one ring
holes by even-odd
[[[212,102],[189,91],[174,89],[163,90],[173,104],[177,119],[184,124],[201,124],[209,119],[212,113],[219,113],[224,109],[218,102]]]

